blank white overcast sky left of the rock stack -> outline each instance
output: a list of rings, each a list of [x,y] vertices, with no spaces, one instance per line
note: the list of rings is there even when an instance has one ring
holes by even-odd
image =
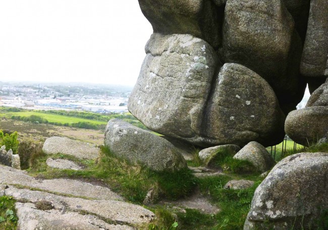
[[[134,85],[151,33],[136,0],[0,0],[0,81]]]

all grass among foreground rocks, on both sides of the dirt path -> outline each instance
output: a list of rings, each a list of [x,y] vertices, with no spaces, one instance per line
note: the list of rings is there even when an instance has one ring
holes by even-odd
[[[223,158],[215,160],[217,167],[226,166],[226,175],[196,178],[187,169],[184,171],[154,172],[139,164],[131,164],[124,159],[117,158],[108,149],[101,149],[101,156],[97,160],[82,160],[64,154],[45,155],[42,151],[33,153],[29,159],[29,174],[43,179],[72,178],[87,182],[107,185],[114,192],[125,197],[135,204],[142,204],[147,192],[158,189],[159,196],[176,200],[187,197],[197,187],[201,193],[208,196],[211,203],[220,207],[217,214],[204,214],[198,210],[185,209],[174,212],[162,206],[146,207],[152,210],[157,219],[144,226],[144,229],[242,229],[253,193],[260,181],[259,173],[245,170],[249,165],[232,159],[232,153],[220,153]],[[196,155],[196,154],[195,154]],[[45,161],[48,157],[53,159],[67,159],[83,167],[83,170],[61,170],[50,168]],[[196,159],[197,160],[197,159]],[[199,159],[198,159],[199,160]],[[195,165],[201,165],[201,161]],[[244,174],[237,174],[243,172]],[[232,179],[252,179],[256,184],[246,190],[227,190],[224,185]]]

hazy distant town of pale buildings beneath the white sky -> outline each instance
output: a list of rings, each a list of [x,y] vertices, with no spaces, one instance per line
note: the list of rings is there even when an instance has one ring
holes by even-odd
[[[0,82],[0,106],[122,113],[128,111],[131,89],[86,83]]]

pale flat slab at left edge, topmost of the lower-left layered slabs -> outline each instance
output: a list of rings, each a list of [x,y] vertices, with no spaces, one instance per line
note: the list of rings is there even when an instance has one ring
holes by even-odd
[[[94,186],[91,183],[72,179],[36,180],[23,171],[0,165],[0,185],[20,185],[34,189],[45,190],[51,193],[60,193],[75,197],[90,199],[123,200],[121,196],[108,188]]]

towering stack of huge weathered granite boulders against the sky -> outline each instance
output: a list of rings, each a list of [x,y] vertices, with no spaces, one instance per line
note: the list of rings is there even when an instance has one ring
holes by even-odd
[[[154,33],[128,108],[163,135],[203,147],[278,144],[306,83],[315,90],[328,74],[324,0],[139,5]]]

